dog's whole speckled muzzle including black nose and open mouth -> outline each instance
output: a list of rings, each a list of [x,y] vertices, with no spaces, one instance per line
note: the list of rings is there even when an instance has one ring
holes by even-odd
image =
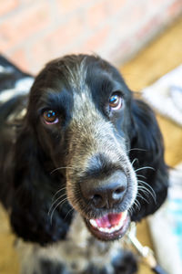
[[[94,126],[93,126],[94,124]],[[66,170],[67,195],[91,233],[101,240],[123,237],[130,223],[129,208],[136,198],[136,174],[125,142],[112,125],[93,122],[93,129],[76,124]],[[77,129],[82,129],[81,134]]]

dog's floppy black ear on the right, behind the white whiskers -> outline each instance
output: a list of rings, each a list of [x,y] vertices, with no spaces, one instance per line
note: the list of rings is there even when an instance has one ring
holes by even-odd
[[[138,180],[134,221],[154,213],[167,197],[164,144],[154,112],[142,100],[132,100],[130,160]]]

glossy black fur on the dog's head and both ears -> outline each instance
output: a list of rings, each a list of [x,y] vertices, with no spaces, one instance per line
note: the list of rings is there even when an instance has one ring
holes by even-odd
[[[66,79],[66,66],[70,67],[71,64],[74,70],[83,58],[86,59],[86,84],[92,91],[93,100],[99,111],[102,111],[107,100],[105,90],[116,85],[122,87],[126,96],[126,114],[111,118],[106,112],[102,115],[106,120],[112,121],[117,136],[125,136],[130,161],[137,159],[134,163],[135,169],[144,166],[154,168],[139,170],[136,174],[146,177],[145,181],[154,189],[157,201],[155,202],[151,196],[145,197],[147,201],[137,197],[141,207],[136,207],[132,211],[131,219],[139,221],[154,213],[167,196],[164,146],[153,111],[145,102],[133,97],[116,68],[101,58],[82,55],[60,58],[49,63],[36,77],[28,102],[26,96],[17,96],[0,107],[0,198],[5,208],[10,210],[11,226],[16,235],[25,241],[40,245],[56,242],[66,237],[71,224],[74,211],[67,215],[72,208],[68,202],[61,209],[56,209],[52,222],[47,213],[53,195],[61,186],[66,186],[65,170],[51,173],[57,165],[66,165],[68,153],[67,127],[72,121],[73,90],[70,91],[71,87]],[[18,75],[18,79],[26,76],[14,66],[12,69],[15,75]],[[100,79],[105,73],[109,78],[101,82]],[[1,90],[9,88],[12,83],[14,81],[3,84],[1,79]],[[64,94],[62,97],[59,96],[61,91]],[[60,132],[49,132],[41,126],[40,109],[45,103],[44,100],[48,100],[51,106],[55,105],[56,110],[61,113]],[[7,123],[10,113],[17,108],[20,111],[26,105],[27,114],[22,121],[14,120]],[[142,180],[141,177],[138,179]],[[62,190],[60,195],[62,194],[66,194],[66,189]]]

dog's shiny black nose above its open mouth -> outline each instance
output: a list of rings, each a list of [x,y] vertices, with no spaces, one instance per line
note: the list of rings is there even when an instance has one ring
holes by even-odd
[[[81,184],[81,191],[86,200],[96,208],[112,208],[120,203],[126,194],[127,179],[121,171],[105,180],[89,180]]]

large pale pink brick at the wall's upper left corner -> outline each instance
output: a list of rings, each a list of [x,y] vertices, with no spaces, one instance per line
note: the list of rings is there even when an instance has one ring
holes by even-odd
[[[50,24],[49,5],[33,5],[18,12],[0,26],[0,47],[7,50],[34,36]]]

